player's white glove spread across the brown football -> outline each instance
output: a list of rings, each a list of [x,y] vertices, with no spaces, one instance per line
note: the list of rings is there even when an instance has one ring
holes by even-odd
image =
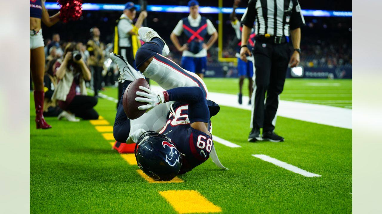
[[[144,86],[139,86],[139,89],[142,89],[145,92],[137,91],[136,95],[142,96],[142,97],[136,97],[135,100],[138,102],[147,102],[146,105],[141,105],[138,107],[139,110],[149,110],[153,109],[155,106],[157,106],[160,103],[163,103],[165,101],[165,96],[162,92],[158,91],[151,91],[148,88],[145,88]],[[146,97],[146,98],[145,98]]]

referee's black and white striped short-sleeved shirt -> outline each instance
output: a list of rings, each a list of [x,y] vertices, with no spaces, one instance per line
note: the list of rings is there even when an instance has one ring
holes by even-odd
[[[298,0],[249,0],[241,23],[252,28],[256,19],[256,35],[289,36],[305,25]]]

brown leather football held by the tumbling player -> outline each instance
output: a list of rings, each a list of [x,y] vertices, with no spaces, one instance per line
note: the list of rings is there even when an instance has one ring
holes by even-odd
[[[138,102],[135,100],[136,97],[141,97],[136,95],[137,91],[145,92],[139,89],[139,86],[150,88],[149,84],[144,78],[139,78],[130,83],[130,85],[126,88],[125,93],[123,93],[123,110],[130,120],[139,118],[146,112],[146,110],[138,110],[139,106],[146,105],[146,103]]]

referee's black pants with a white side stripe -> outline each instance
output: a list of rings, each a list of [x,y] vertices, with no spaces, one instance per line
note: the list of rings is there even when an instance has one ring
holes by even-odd
[[[255,79],[253,82],[254,104],[252,105],[253,128],[264,131],[275,129],[278,97],[285,83],[290,60],[288,43],[274,44],[256,41],[253,48]],[[265,93],[267,99],[265,100]]]

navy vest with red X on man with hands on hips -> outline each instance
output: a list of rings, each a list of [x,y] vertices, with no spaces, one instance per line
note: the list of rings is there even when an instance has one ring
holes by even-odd
[[[207,18],[202,17],[199,26],[191,27],[188,18],[183,18],[183,32],[188,43],[188,50],[194,54],[202,50],[204,36],[207,34]]]

